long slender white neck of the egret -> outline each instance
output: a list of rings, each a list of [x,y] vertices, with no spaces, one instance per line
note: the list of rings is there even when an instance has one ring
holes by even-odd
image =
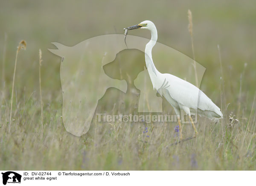
[[[148,74],[150,76],[151,82],[153,84],[154,89],[158,89],[157,86],[157,76],[160,75],[160,72],[158,72],[157,68],[154,66],[154,62],[152,59],[152,48],[157,42],[157,28],[154,26],[153,29],[150,29],[151,31],[151,40],[146,44],[145,47],[145,62],[148,69]]]

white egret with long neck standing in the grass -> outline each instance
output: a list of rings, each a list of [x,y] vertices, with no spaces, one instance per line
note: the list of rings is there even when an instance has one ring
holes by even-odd
[[[198,113],[199,115],[207,116],[210,119],[222,118],[220,108],[218,108],[211,99],[209,99],[205,93],[198,89],[195,85],[173,76],[168,73],[160,73],[154,66],[152,59],[152,48],[157,42],[157,28],[150,20],[145,20],[140,24],[125,28],[125,30],[132,29],[148,29],[151,32],[151,40],[145,46],[145,62],[148,69],[148,73],[153,84],[153,88],[157,92],[164,96],[165,99],[172,105],[177,114],[178,124],[180,128],[181,136],[181,123],[180,115],[181,110],[189,115],[189,119],[195,130],[195,134],[198,134],[194,122],[191,117],[192,114]]]

